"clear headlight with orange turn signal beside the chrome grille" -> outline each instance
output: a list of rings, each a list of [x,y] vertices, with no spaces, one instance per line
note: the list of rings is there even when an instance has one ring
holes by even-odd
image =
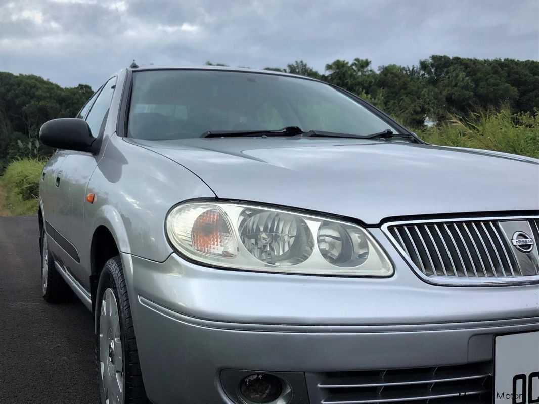
[[[172,246],[211,266],[319,275],[390,276],[393,267],[362,227],[243,204],[185,203],[167,217]]]

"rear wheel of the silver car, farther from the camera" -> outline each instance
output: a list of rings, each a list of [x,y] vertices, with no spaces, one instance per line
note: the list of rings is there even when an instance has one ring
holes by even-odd
[[[66,302],[73,298],[73,291],[54,266],[49,250],[49,235],[41,230],[41,285],[43,298],[47,303]]]

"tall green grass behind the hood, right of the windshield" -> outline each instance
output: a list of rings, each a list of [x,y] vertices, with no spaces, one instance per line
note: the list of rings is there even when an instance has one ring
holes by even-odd
[[[512,115],[508,108],[454,116],[439,126],[418,130],[426,142],[503,151],[539,158],[539,110]]]

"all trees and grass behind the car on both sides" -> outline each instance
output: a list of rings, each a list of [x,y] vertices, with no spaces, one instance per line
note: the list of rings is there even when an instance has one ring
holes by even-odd
[[[343,87],[429,143],[539,158],[539,61],[432,55],[411,67],[375,69],[355,58],[335,60],[323,73],[302,60],[266,69]],[[53,151],[40,144],[39,128],[75,116],[92,93],[85,84],[63,88],[0,72],[0,215],[36,212],[39,175]]]

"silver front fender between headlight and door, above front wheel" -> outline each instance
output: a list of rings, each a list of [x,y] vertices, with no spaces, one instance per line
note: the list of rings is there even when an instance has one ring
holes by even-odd
[[[122,253],[164,262],[172,253],[164,229],[170,208],[191,198],[215,197],[194,173],[170,159],[113,135],[88,183],[87,246],[99,226],[113,234]]]

